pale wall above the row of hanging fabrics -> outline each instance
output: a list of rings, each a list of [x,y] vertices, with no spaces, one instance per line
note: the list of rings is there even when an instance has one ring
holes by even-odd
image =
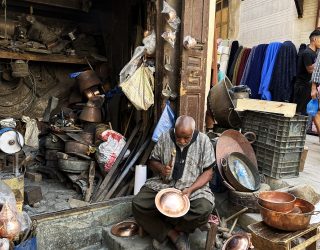
[[[294,1],[245,0],[240,4],[239,35],[244,46],[291,40],[296,46],[307,43],[314,30],[316,0],[304,1],[303,18],[298,18]]]

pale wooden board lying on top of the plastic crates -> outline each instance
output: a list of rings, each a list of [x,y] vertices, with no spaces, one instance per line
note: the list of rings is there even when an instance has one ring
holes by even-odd
[[[272,102],[255,99],[238,99],[236,111],[260,111],[276,114],[283,114],[285,117],[294,117],[296,114],[297,104],[287,102]]]

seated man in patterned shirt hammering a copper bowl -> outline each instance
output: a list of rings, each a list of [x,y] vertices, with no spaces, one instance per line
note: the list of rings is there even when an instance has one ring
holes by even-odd
[[[171,165],[174,149],[176,160]],[[161,243],[168,238],[177,249],[190,249],[188,234],[207,223],[214,206],[208,183],[212,178],[214,161],[210,139],[195,130],[192,117],[180,116],[175,129],[160,136],[149,163],[157,176],[147,180],[132,202],[133,215],[154,239],[155,249],[163,249]],[[157,210],[154,201],[157,192],[169,187],[182,190],[190,199],[190,210],[185,216],[168,218]]]

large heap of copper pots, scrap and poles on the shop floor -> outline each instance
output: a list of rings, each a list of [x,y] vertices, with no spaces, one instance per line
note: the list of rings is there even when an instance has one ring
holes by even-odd
[[[151,124],[145,124],[140,132],[142,122],[131,119],[131,115],[124,134],[128,128],[135,128],[126,140],[112,130],[110,122],[106,122],[103,106],[106,86],[96,72],[86,70],[73,76],[86,103],[82,103],[80,95],[71,106],[59,109],[59,100],[50,99],[43,117],[37,156],[42,166],[37,171],[73,183],[85,201],[90,201],[92,194],[101,191],[106,179],[109,179],[108,188],[103,191],[110,191],[106,197],[131,194],[134,173],[131,168],[138,160],[143,163],[148,158],[143,153],[150,142],[147,138],[150,137]],[[149,118],[145,120],[152,122]],[[103,176],[106,176],[104,181]],[[97,195],[100,197],[100,192]]]

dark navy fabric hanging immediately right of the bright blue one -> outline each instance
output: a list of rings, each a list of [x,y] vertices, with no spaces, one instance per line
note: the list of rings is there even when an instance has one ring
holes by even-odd
[[[290,102],[297,75],[297,49],[292,42],[282,44],[275,65],[269,86],[272,101]]]

